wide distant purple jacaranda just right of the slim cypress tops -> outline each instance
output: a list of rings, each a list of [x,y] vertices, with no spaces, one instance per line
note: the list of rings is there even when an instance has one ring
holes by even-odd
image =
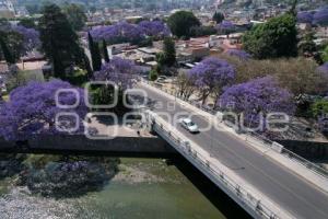
[[[139,26],[127,22],[120,22],[109,26],[98,26],[93,28],[90,33],[95,41],[105,39],[109,44],[138,43],[144,38],[143,31]]]

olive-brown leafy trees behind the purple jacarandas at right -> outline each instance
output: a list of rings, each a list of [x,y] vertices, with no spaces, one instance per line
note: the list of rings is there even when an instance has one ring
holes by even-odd
[[[317,71],[317,64],[314,60],[300,57],[245,61],[229,55],[220,57],[235,66],[238,83],[272,76],[282,88],[290,90],[294,95],[327,93],[328,79]]]

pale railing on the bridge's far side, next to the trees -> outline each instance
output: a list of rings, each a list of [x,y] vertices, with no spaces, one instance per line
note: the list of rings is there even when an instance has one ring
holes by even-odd
[[[169,92],[167,89],[163,89],[163,87],[161,85],[156,85],[154,84],[153,82],[150,82],[150,81],[147,81],[147,80],[142,80],[143,82],[148,83],[149,85],[152,85],[152,87],[155,87],[156,89],[160,89],[161,91],[167,93],[167,94],[171,94],[173,96],[176,96],[177,99],[180,99],[178,95],[176,95],[173,91]],[[180,99],[181,101],[185,101],[189,104],[191,104],[192,106],[195,107],[198,107],[199,110],[202,110],[202,111],[206,111],[207,113],[210,113],[212,115],[215,115],[218,112],[215,111],[212,111],[212,110],[209,110],[209,108],[206,108],[206,107],[202,107],[200,106],[199,104],[196,104],[195,102],[191,102],[191,101],[186,101],[186,100],[183,100]],[[289,158],[289,159],[292,159],[293,161],[300,163],[301,165],[309,169],[311,171],[313,171],[314,173],[320,175],[320,176],[324,176],[325,178],[328,178],[328,171],[324,168],[320,168],[319,165],[306,160],[305,158],[302,158],[301,155],[297,155],[296,153],[285,149],[283,146],[281,146],[280,143],[278,142],[273,142],[271,140],[269,140],[268,138],[266,138],[265,136],[262,135],[259,135],[257,132],[247,132],[249,136],[260,140],[261,142],[263,142],[265,146],[267,146],[268,148],[272,149],[273,151],[276,152],[279,152],[281,153],[282,155]],[[277,148],[278,147],[278,148]]]

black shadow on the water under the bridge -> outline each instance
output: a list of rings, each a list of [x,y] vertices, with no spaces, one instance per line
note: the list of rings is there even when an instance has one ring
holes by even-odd
[[[181,155],[174,155],[168,164],[175,165],[226,218],[251,217]]]

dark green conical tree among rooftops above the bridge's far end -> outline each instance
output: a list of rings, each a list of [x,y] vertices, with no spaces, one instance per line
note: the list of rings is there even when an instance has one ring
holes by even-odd
[[[157,54],[156,61],[160,66],[172,67],[176,62],[175,43],[171,37],[164,38],[164,51]]]

